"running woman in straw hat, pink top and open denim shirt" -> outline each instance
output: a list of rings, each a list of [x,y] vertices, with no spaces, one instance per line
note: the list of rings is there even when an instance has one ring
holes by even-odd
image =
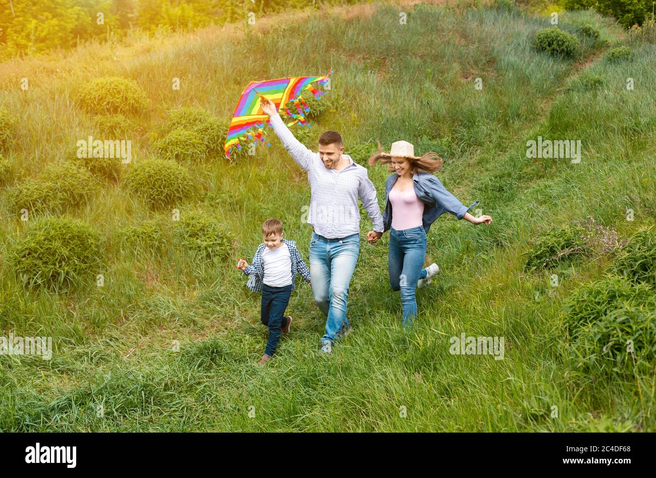
[[[415,288],[428,285],[430,278],[440,270],[437,264],[422,269],[430,225],[444,212],[472,224],[491,224],[492,218],[475,218],[469,214],[467,211],[478,201],[465,207],[436,176],[430,174],[441,169],[442,160],[437,153],[417,157],[415,147],[407,141],[392,143],[390,153],[382,152],[380,143],[378,149],[379,153],[369,158],[369,165],[380,161],[392,172],[385,184],[385,212],[382,215],[384,231],[390,229],[390,286],[392,290],[401,290],[403,325],[409,327],[417,315]],[[369,231],[367,241],[375,243],[381,235]]]

